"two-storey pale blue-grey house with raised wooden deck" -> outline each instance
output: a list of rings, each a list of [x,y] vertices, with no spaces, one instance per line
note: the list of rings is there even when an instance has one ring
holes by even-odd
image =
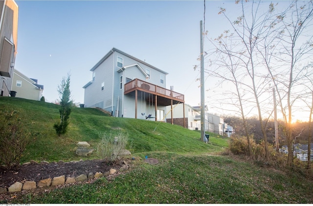
[[[83,87],[85,107],[116,117],[165,121],[166,106],[184,104],[183,94],[165,89],[168,73],[116,48],[90,71],[92,80]]]

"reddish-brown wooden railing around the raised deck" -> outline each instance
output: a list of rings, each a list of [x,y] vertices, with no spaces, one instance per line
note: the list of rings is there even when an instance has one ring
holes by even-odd
[[[168,98],[184,101],[183,94],[179,94],[177,92],[165,89],[163,87],[159,87],[155,84],[151,84],[149,82],[146,82],[137,78],[125,84],[124,93],[127,94],[127,92],[135,90],[135,89],[146,91],[148,93],[160,95],[163,97],[168,97]]]

